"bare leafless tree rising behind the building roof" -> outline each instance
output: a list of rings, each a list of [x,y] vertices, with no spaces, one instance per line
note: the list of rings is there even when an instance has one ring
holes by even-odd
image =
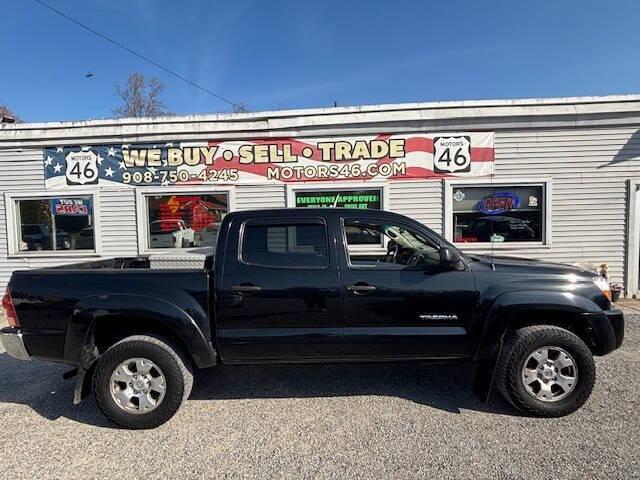
[[[141,73],[130,73],[127,83],[121,86],[116,82],[115,89],[122,100],[122,105],[113,109],[117,118],[171,115],[160,99],[164,84],[157,78],[146,80]]]

